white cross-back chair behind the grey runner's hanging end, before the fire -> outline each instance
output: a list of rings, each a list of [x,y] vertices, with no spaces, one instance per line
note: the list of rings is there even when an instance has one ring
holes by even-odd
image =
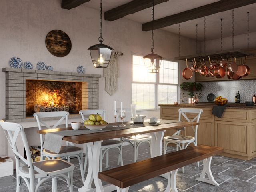
[[[63,120],[65,120],[65,126],[68,127],[68,115],[69,113],[66,111],[55,111],[55,112],[37,112],[34,113],[34,118],[36,118],[39,130],[42,130],[41,124],[43,124],[48,129],[56,128]],[[50,127],[46,122],[42,120],[42,118],[48,117],[60,117],[60,120],[54,124],[54,126]],[[68,162],[70,162],[70,157],[78,158],[78,162],[80,165],[81,177],[82,182],[84,183],[84,170],[83,170],[83,149],[80,147],[74,146],[71,142],[66,142],[66,146],[61,146],[60,152],[55,153],[47,149],[43,149],[44,145],[44,136],[40,134],[40,142],[41,142],[41,158],[40,160],[44,160],[44,157],[48,159],[53,158],[61,158],[66,159],[68,158]],[[56,178],[53,178],[53,182],[56,182]]]

